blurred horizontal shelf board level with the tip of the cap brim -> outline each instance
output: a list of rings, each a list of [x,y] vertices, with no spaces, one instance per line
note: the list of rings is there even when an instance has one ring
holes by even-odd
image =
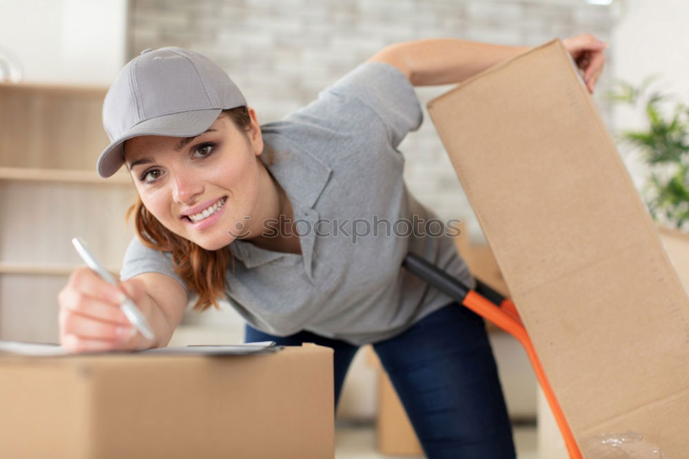
[[[61,183],[87,183],[92,185],[130,185],[132,178],[121,170],[107,179],[88,170],[37,169],[34,167],[0,167],[0,180]]]

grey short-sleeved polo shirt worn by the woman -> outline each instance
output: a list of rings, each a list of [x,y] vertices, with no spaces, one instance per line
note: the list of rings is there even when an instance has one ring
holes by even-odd
[[[262,126],[274,165],[262,161],[287,192],[302,253],[241,240],[227,246],[236,258],[227,299],[252,327],[276,336],[307,330],[353,345],[395,336],[451,302],[400,267],[407,252],[475,286],[451,239],[437,236],[439,221],[423,224],[435,215],[402,178],[397,147],[421,122],[407,77],[367,62],[305,108]],[[169,254],[134,238],[121,277],[144,272],[167,274],[187,289]]]

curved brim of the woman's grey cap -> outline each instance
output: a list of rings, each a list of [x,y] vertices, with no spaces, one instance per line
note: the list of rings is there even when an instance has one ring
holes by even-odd
[[[223,109],[192,110],[173,113],[138,123],[124,132],[103,150],[96,163],[96,171],[101,177],[110,177],[125,162],[123,145],[127,139],[138,136],[193,137],[206,132],[215,123]]]

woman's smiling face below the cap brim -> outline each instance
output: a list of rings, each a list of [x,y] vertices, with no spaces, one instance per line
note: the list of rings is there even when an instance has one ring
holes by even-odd
[[[225,247],[255,213],[263,151],[258,121],[243,131],[221,115],[192,139],[138,136],[125,164],[146,209],[168,230],[207,250]]]

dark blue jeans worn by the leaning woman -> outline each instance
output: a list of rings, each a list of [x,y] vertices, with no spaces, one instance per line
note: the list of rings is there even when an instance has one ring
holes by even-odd
[[[247,325],[245,341],[334,349],[335,407],[358,347],[310,332],[271,336]],[[484,319],[450,303],[407,331],[373,343],[428,459],[515,458]]]

